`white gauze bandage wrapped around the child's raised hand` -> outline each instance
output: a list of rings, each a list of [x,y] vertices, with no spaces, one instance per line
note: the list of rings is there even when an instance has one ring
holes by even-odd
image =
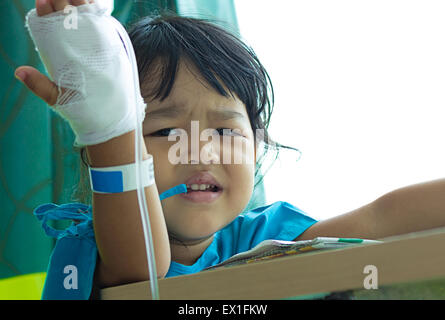
[[[33,9],[26,26],[48,74],[63,88],[53,109],[69,122],[79,147],[135,130],[136,112],[143,120],[146,105],[133,47],[119,21],[99,3],[71,9],[41,17]]]

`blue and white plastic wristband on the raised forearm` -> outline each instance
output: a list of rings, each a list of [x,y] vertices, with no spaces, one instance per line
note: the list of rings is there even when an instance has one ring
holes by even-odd
[[[141,162],[143,187],[154,184],[153,157]],[[137,189],[135,163],[115,167],[91,168],[91,190],[96,193],[120,193]]]

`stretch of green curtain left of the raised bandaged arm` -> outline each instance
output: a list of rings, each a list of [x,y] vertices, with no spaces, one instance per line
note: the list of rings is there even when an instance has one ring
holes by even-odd
[[[33,1],[0,2],[0,278],[46,271],[53,241],[33,208],[55,194],[51,113],[14,77],[43,65],[25,29]]]

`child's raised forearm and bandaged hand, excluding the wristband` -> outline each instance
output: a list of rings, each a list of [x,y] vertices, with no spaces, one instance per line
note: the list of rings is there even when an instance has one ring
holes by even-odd
[[[99,5],[77,2],[77,28],[67,29],[62,10],[67,0],[37,1],[27,27],[51,79],[30,66],[19,67],[16,76],[69,122],[75,145],[86,146],[91,167],[101,173],[134,163],[135,124],[144,119],[145,103],[134,81],[125,30]],[[142,137],[139,141],[142,159],[150,159]],[[127,190],[93,192],[101,287],[149,279],[138,195]],[[144,194],[157,276],[163,277],[170,266],[170,244],[154,178]]]

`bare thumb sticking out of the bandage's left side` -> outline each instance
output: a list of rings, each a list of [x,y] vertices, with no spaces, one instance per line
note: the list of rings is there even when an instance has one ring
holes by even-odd
[[[40,97],[50,106],[56,103],[57,97],[59,96],[57,85],[37,69],[22,66],[17,68],[15,76],[36,96]],[[62,92],[63,91],[64,89],[62,89]]]

